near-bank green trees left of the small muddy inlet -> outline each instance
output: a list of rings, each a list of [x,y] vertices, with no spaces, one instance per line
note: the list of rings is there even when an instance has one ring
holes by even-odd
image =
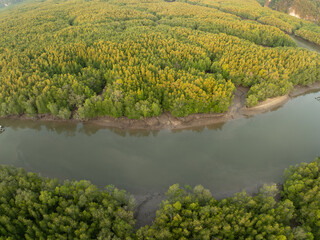
[[[131,239],[133,224],[123,191],[0,167],[0,239]]]

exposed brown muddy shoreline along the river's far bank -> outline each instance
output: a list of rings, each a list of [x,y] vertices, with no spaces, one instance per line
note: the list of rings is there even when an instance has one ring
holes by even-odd
[[[233,119],[252,117],[256,114],[275,110],[283,106],[292,98],[307,93],[320,91],[320,82],[316,82],[307,86],[295,86],[289,94],[275,98],[268,98],[251,108],[247,108],[245,106],[246,94],[248,91],[248,88],[241,86],[237,87],[233,103],[230,106],[229,111],[225,113],[197,113],[191,114],[187,117],[174,117],[169,112],[164,112],[158,117],[146,119],[128,119],[127,117],[113,118],[106,116],[85,121],[77,119],[61,120],[49,114],[38,115],[36,117],[11,115],[7,117],[1,117],[0,119],[20,119],[66,123],[74,122],[127,130],[183,130],[194,127],[207,127],[218,123],[225,123]]]

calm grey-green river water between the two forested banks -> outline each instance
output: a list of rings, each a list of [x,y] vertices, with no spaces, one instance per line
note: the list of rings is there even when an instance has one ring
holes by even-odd
[[[305,43],[303,43],[305,44]],[[282,181],[320,156],[320,93],[225,124],[172,132],[126,131],[73,122],[1,120],[0,164],[42,176],[87,179],[134,195],[201,184],[217,197]]]

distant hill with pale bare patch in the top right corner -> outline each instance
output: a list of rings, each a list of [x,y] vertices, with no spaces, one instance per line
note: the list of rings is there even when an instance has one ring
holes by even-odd
[[[320,0],[266,0],[266,5],[274,10],[320,23]]]

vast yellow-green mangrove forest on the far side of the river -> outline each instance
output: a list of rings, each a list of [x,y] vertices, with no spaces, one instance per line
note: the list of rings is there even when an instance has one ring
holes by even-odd
[[[0,12],[0,116],[222,113],[320,78],[314,23],[255,0],[46,0]]]

